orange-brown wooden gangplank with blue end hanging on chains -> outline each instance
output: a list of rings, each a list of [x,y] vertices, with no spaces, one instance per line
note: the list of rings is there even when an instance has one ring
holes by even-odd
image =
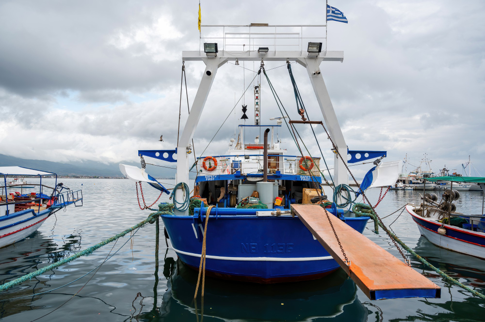
[[[325,215],[326,211],[319,205],[312,204],[298,204],[291,207],[313,236],[371,300],[440,297],[441,289],[435,283],[328,213],[350,261],[349,268]]]

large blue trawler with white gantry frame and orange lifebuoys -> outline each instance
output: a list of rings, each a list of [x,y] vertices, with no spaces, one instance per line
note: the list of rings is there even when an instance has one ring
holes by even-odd
[[[241,33],[231,33],[230,39],[233,42],[236,39],[234,35],[242,34],[242,32],[247,32],[244,34],[250,35],[251,38],[253,35],[261,34],[262,31],[268,31],[267,26],[260,24],[258,27],[232,27],[239,28],[241,31]],[[290,62],[297,61],[306,68],[320,107],[319,109],[312,109],[311,112],[314,115],[317,112],[322,113],[326,129],[330,138],[335,142],[338,151],[343,153],[344,156],[349,154],[348,160],[347,158],[342,160],[337,154],[334,154],[334,174],[333,176],[326,176],[327,180],[333,180],[334,186],[338,188],[348,187],[348,171],[345,163],[379,158],[376,161],[376,164],[379,164],[380,159],[387,155],[386,151],[349,151],[347,149],[319,67],[323,61],[343,61],[343,52],[327,51],[326,49],[323,51],[322,43],[308,43],[307,38],[303,38],[301,33],[295,32],[295,30],[300,31],[301,28],[308,26],[271,26],[269,29],[274,30],[271,29],[272,27],[278,28],[278,32],[271,34],[272,41],[284,44],[286,31],[283,30],[287,28],[287,30],[291,29],[288,32],[292,37],[298,34],[300,47],[297,50],[282,51],[280,48],[284,48],[285,45],[276,44],[269,49],[252,45],[245,46],[245,49],[241,51],[228,50],[230,48],[226,47],[229,45],[224,42],[224,44],[205,43],[204,51],[184,51],[182,53],[183,61],[203,61],[206,68],[187,122],[178,139],[177,148],[175,150],[139,150],[138,155],[142,157],[142,169],[120,165],[122,173],[133,181],[137,183],[146,182],[169,193],[162,184],[146,173],[143,157],[177,163],[176,179],[179,184],[171,196],[177,205],[177,209],[175,215],[162,215],[162,220],[171,245],[180,260],[188,266],[198,269],[201,260],[204,227],[206,221],[209,220],[206,274],[259,283],[315,279],[340,267],[302,221],[292,215],[291,212],[292,204],[310,202],[310,197],[316,199],[313,202],[327,199],[326,196],[322,196],[323,177],[321,176],[321,169],[323,165],[320,157],[323,157],[323,155],[319,157],[305,155],[307,152],[303,153],[302,150],[299,150],[300,153],[298,154],[289,155],[278,139],[278,131],[282,129],[287,131],[289,123],[292,126],[293,124],[294,126],[301,124],[299,126],[314,126],[314,128],[322,126],[323,123],[307,122],[308,114],[302,108],[298,111],[298,114],[294,113],[294,115],[288,115],[286,111],[282,112],[282,115],[269,119],[269,121],[276,121],[276,123],[262,125],[264,123],[261,123],[260,119],[262,108],[260,95],[264,94],[261,92],[261,87],[264,88],[265,85],[255,81],[251,89],[255,102],[254,123],[251,125],[246,123],[249,118],[245,114],[246,106],[243,106],[242,116],[241,114],[240,116],[241,123],[244,123],[239,124],[239,133],[236,133],[230,140],[227,138],[229,150],[220,155],[201,155],[194,162],[192,138],[218,69],[224,66],[227,61],[256,61],[261,63],[260,76],[263,77],[263,74],[265,74],[263,62],[288,62],[288,66],[285,66],[285,68],[290,71],[288,85],[291,88],[290,78],[293,78]],[[315,26],[317,29],[319,27],[322,26]],[[221,26],[221,31],[223,29],[224,26]],[[245,37],[240,40],[243,43],[247,42],[247,39]],[[251,43],[254,44],[252,41]],[[302,48],[302,44],[305,44],[305,48]],[[308,48],[306,47],[307,44]],[[218,45],[223,45],[222,50],[218,50]],[[299,95],[294,82],[293,90],[295,96]],[[270,91],[273,92],[274,88],[268,83],[267,92]],[[268,100],[269,97],[272,97],[272,95],[268,95]],[[308,107],[307,110],[309,110]],[[227,112],[231,114],[230,109]],[[305,120],[291,121],[290,117],[302,117]],[[287,119],[290,122],[287,122]],[[214,122],[218,120],[214,119]],[[282,127],[283,122],[285,122],[284,127]],[[269,132],[271,132],[271,135]],[[262,133],[264,133],[264,140],[260,138]],[[291,131],[289,131],[289,134],[292,135]],[[271,138],[268,138],[268,136]],[[245,140],[245,138],[251,139]],[[300,141],[302,139],[299,136],[293,138]],[[310,138],[303,139],[310,140]],[[296,148],[296,145],[294,147]],[[393,167],[395,168],[393,170],[395,176],[390,181],[384,183],[385,180],[376,180],[375,175],[372,177],[371,173],[369,184],[373,184],[372,186],[388,186],[395,183],[401,165],[396,163],[393,164]],[[192,188],[189,188],[189,173],[191,171],[196,172],[194,195],[206,200],[208,204],[216,206],[210,211],[209,218],[207,217],[207,205],[202,203],[200,207],[193,209],[193,213],[192,209],[188,207],[190,202],[189,191],[192,190]],[[380,184],[375,184],[376,182]],[[345,206],[348,207],[348,204],[344,206],[344,202],[341,200],[343,198],[352,199],[353,196],[350,196],[349,190],[343,189],[341,191],[334,198],[334,201],[340,204],[340,208],[337,207],[336,203],[333,203],[332,208],[328,210],[333,214],[334,217],[332,218],[335,218],[333,220],[342,220],[362,233],[370,218],[354,217],[347,209],[342,209]],[[332,193],[332,187],[326,186],[325,192]],[[248,204],[251,207],[250,203],[252,202],[259,204],[259,207],[257,209],[243,209]],[[268,209],[261,209],[262,207]]]

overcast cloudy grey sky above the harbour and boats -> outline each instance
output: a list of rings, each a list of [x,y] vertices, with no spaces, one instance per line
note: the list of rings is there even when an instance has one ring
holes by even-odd
[[[322,24],[325,16],[324,1],[201,2],[203,24]],[[349,148],[387,150],[388,160],[408,153],[413,164],[427,153],[435,169],[446,164],[459,172],[471,155],[485,175],[485,2],[329,4],[349,20],[328,28],[328,49],[343,50],[343,63],[321,65]],[[117,162],[137,160],[142,148],[175,148],[181,51],[198,47],[197,10],[195,0],[0,1],[0,153]],[[219,70],[195,132],[196,152],[253,78],[253,63],[245,63],[245,74],[241,65]],[[192,105],[204,65],[186,67]],[[306,70],[293,64],[293,73],[310,116],[321,118]],[[268,74],[296,119],[287,69]],[[266,123],[279,112],[265,80],[261,86]],[[252,94],[245,100],[251,111]],[[239,119],[240,105],[237,113]],[[328,140],[317,134],[333,164]],[[224,152],[231,135],[233,116],[206,154]],[[287,131],[280,138],[296,152]],[[306,143],[318,155],[314,139]]]

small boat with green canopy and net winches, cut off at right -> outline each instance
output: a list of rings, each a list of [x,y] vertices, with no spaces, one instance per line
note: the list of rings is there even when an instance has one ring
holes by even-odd
[[[406,205],[421,235],[438,247],[485,259],[485,215],[456,212],[453,203],[460,197],[455,184],[476,183],[485,193],[485,178],[442,176],[428,180],[448,181],[451,189],[439,202],[435,194],[425,194],[424,203]]]

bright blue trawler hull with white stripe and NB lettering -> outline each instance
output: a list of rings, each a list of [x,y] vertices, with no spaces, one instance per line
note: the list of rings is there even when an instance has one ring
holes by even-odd
[[[362,233],[368,219],[345,218],[345,222]],[[205,215],[199,221],[196,216],[179,215],[162,215],[162,220],[180,260],[198,269]],[[338,268],[339,264],[297,217],[209,217],[206,246],[208,275],[275,283],[315,279]]]

